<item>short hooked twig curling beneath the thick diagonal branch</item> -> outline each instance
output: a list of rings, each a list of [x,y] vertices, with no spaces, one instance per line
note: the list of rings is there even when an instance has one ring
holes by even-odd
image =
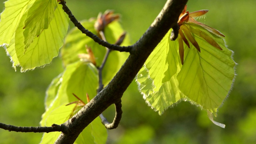
[[[119,102],[115,103],[115,108],[116,108],[116,115],[112,123],[109,123],[108,120],[103,116],[103,114],[100,114],[100,119],[102,124],[105,126],[107,129],[114,129],[118,127],[118,124],[122,118],[122,103],[121,99]]]

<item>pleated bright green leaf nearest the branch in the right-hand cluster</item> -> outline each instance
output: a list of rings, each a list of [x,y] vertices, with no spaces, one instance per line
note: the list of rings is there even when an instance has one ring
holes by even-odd
[[[176,77],[181,64],[177,45],[169,39],[170,33],[164,36],[137,75],[143,98],[159,114],[176,102],[187,99],[178,89]]]

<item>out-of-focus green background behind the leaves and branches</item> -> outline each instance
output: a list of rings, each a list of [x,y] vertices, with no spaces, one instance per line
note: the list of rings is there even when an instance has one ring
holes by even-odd
[[[96,17],[98,12],[115,10],[132,43],[153,22],[166,0],[67,0],[78,20]],[[219,108],[220,128],[210,122],[205,111],[180,102],[162,116],[144,102],[133,82],[122,98],[120,126],[109,130],[112,144],[253,144],[256,143],[256,13],[255,0],[190,0],[190,12],[208,9],[205,24],[226,36],[234,51],[236,81],[230,96]],[[3,0],[0,10],[3,10]],[[70,28],[74,27],[72,24]],[[44,113],[45,91],[51,80],[62,72],[60,58],[44,68],[25,73],[12,68],[5,50],[0,49],[0,122],[15,126],[39,126]],[[104,112],[111,121],[114,107]],[[36,144],[42,134],[8,132],[0,129],[0,144]]]

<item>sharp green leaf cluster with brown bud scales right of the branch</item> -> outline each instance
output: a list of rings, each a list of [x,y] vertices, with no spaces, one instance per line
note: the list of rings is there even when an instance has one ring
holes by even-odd
[[[139,90],[159,114],[186,100],[207,110],[210,120],[224,127],[212,115],[216,116],[234,81],[233,52],[226,47],[223,34],[195,22],[185,11],[178,22],[177,40],[169,39],[170,30],[138,73]],[[192,16],[206,12],[194,12]]]

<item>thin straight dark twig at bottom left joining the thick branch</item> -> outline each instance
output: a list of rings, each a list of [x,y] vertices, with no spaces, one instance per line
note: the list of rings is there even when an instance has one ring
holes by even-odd
[[[0,128],[8,130],[9,132],[65,132],[65,128],[62,124],[52,124],[52,126],[37,126],[37,127],[21,127],[21,126],[12,126],[0,123]]]

